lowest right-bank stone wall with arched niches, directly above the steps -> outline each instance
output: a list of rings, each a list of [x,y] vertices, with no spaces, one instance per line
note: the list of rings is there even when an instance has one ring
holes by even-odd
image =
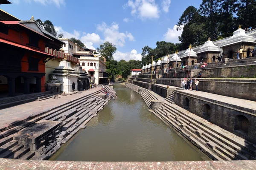
[[[230,105],[203,96],[187,94],[183,91],[175,90],[174,102],[176,105],[207,119],[209,122],[219,127],[235,133],[250,142],[256,140],[256,111],[241,108],[237,105]],[[248,132],[239,129],[239,117],[247,118]],[[241,122],[241,123],[244,123]],[[242,126],[242,125],[241,125]]]

